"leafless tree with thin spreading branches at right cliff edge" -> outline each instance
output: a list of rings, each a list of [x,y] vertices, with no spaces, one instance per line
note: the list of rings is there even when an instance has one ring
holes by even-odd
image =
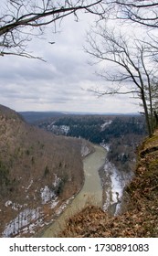
[[[131,94],[142,100],[148,133],[153,134],[153,80],[158,75],[158,64],[153,64],[153,56],[148,44],[136,38],[117,33],[114,29],[100,27],[89,34],[86,51],[98,61],[112,63],[111,69],[102,69],[100,76],[112,82],[100,95]],[[108,67],[108,65],[107,65]],[[122,85],[124,87],[122,87]],[[124,89],[125,88],[125,89]],[[123,91],[121,91],[123,89]]]

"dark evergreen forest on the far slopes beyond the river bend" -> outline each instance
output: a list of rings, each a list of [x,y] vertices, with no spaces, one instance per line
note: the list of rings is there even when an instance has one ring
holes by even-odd
[[[147,135],[144,116],[68,114],[38,120],[35,124],[57,135],[84,138],[108,148],[108,159],[121,171],[134,168],[136,149]]]

